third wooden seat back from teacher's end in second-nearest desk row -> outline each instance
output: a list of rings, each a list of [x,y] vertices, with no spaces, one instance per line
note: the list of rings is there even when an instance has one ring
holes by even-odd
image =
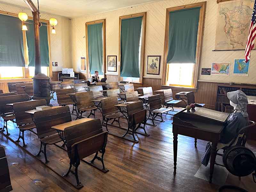
[[[79,109],[94,106],[93,92],[76,92],[76,106]]]

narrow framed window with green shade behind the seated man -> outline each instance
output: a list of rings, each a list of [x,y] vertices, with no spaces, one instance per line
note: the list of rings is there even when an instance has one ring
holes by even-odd
[[[85,23],[86,35],[86,70],[87,77],[93,76],[94,71],[99,71],[104,77],[106,63],[106,20],[97,20]]]

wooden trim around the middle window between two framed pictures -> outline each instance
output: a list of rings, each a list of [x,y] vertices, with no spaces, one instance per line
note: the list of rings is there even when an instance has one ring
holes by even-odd
[[[146,43],[146,24],[147,24],[147,12],[136,13],[131,15],[125,15],[119,17],[119,53],[118,53],[118,80],[121,81],[121,24],[123,19],[131,19],[135,17],[142,17],[142,40],[141,40],[141,53],[140,53],[140,83],[142,83],[144,76],[144,64],[145,64],[145,43]],[[138,82],[136,82],[138,83]]]

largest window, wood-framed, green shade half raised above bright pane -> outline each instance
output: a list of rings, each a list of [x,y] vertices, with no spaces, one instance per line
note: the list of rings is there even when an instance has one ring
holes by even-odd
[[[206,2],[166,9],[164,85],[196,87]]]

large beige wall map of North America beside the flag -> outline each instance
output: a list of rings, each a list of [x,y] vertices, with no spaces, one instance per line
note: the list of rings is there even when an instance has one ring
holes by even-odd
[[[215,50],[245,49],[254,0],[220,3]]]

